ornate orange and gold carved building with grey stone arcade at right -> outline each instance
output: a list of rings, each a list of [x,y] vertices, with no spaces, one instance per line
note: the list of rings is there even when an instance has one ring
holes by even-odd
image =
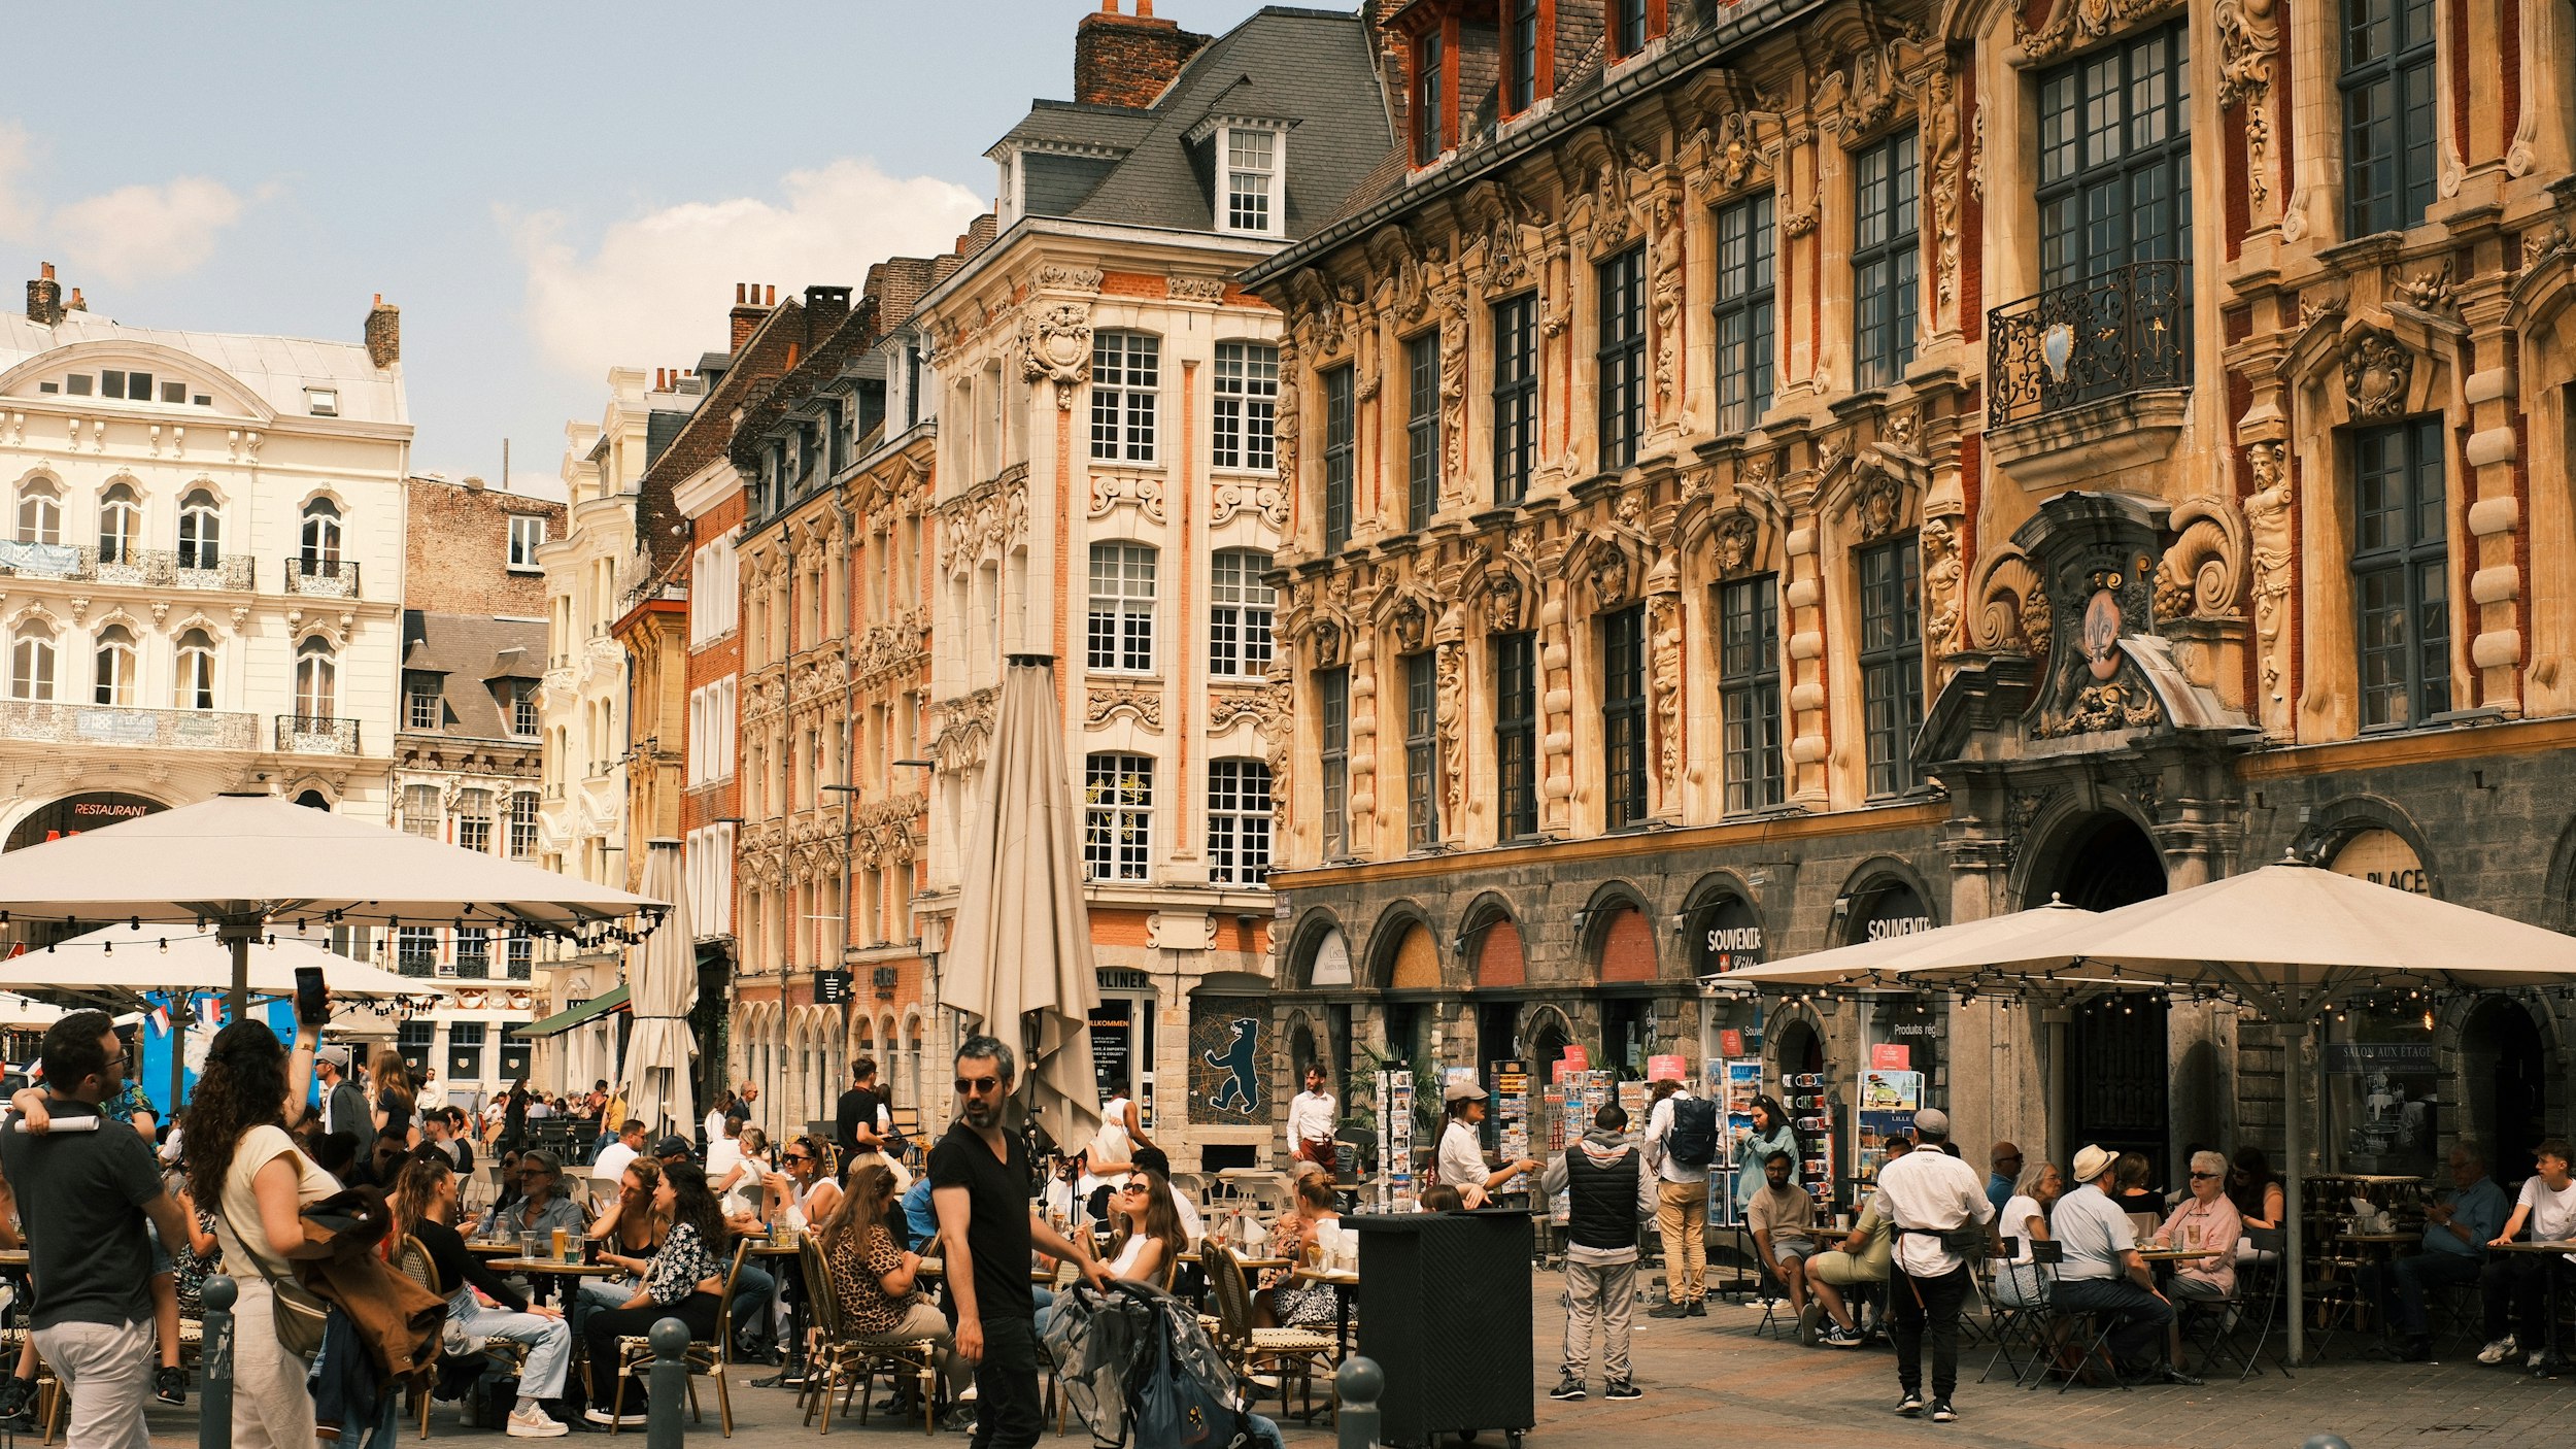
[[[1842,1176],[1904,1060],[1973,1150],[2174,1176],[2298,1101],[2329,1165],[2527,1171],[2540,998],[2285,1062],[2208,1000],[1710,982],[2282,851],[2576,923],[2566,0],[1373,13],[1399,152],[1244,278],[1293,508],[1273,1091],[1759,1055],[1829,1078]]]

